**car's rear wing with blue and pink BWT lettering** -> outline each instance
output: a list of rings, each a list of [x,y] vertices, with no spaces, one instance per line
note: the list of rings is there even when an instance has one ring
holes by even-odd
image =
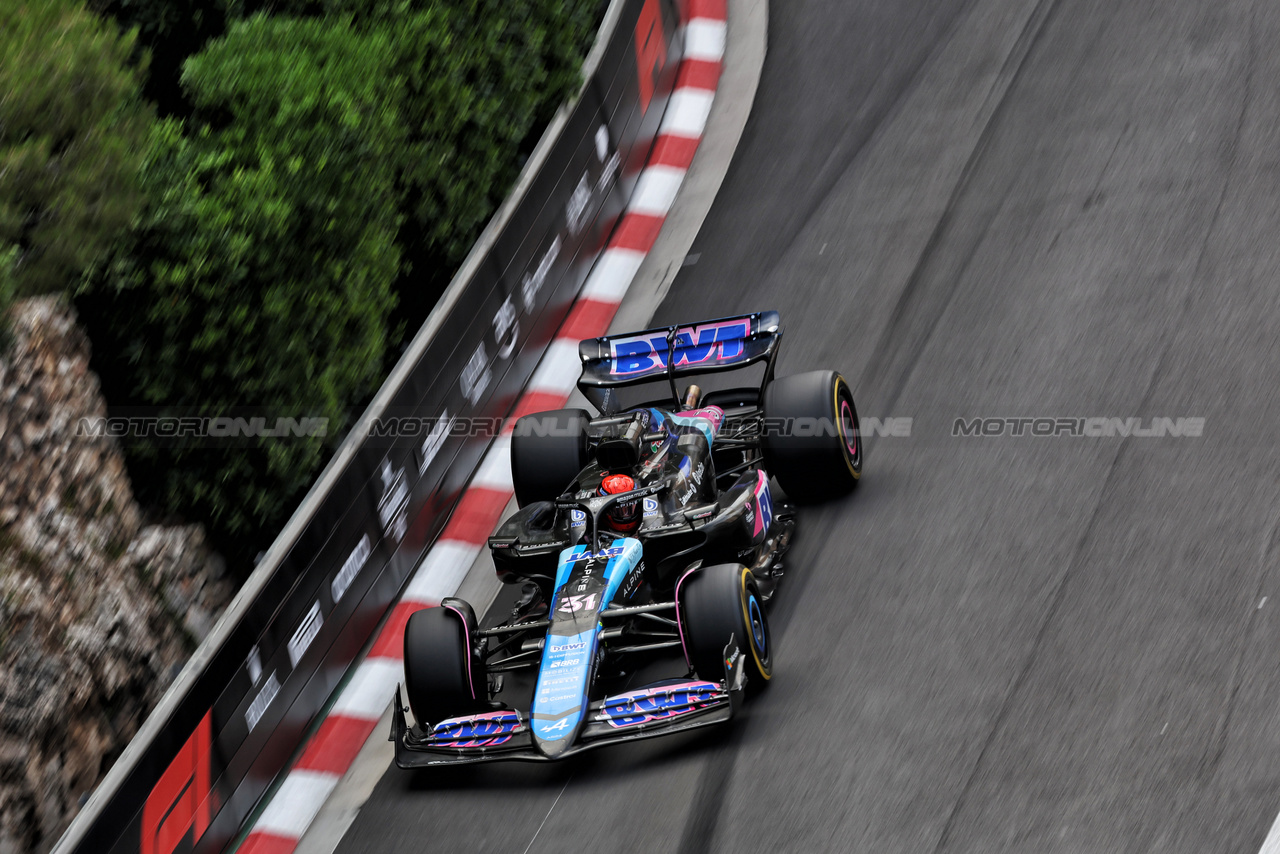
[[[611,405],[611,389],[666,379],[678,405],[677,376],[739,370],[763,361],[768,362],[763,382],[768,382],[781,338],[777,311],[589,338],[579,344],[582,375],[577,387],[596,408],[608,412],[617,408]]]

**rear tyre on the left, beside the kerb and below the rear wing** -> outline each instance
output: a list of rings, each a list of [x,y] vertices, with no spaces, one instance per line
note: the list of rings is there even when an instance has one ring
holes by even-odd
[[[511,479],[516,502],[554,501],[589,462],[585,410],[526,415],[511,434]]]

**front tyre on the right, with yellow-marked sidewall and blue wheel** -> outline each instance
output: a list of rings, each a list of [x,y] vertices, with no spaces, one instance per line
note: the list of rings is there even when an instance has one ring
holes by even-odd
[[[773,640],[755,576],[739,563],[696,570],[676,594],[681,639],[699,677],[724,680],[724,645],[737,640],[746,667],[746,684],[760,689],[773,676]]]

